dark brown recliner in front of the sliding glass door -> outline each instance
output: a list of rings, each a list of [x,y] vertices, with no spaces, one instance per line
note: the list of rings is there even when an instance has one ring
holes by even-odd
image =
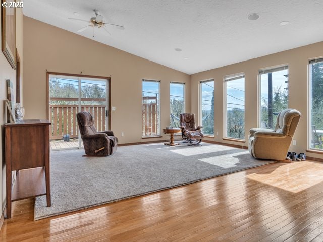
[[[117,150],[118,138],[112,131],[97,132],[91,113],[81,111],[76,117],[87,156],[107,156]]]

